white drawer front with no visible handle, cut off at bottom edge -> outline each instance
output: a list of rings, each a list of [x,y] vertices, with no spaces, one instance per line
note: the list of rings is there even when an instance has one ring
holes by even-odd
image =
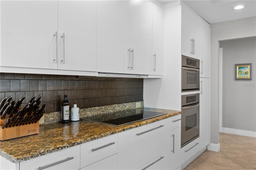
[[[118,168],[118,154],[109,156],[108,158],[102,159],[98,162],[90,164],[81,170],[117,170]]]

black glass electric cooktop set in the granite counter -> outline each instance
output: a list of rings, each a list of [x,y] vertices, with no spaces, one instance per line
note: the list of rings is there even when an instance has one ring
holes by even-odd
[[[96,115],[96,116],[85,118],[85,120],[118,127],[121,125],[126,125],[129,123],[150,119],[152,117],[157,117],[165,114],[166,113],[158,113],[158,112],[150,112],[150,111],[142,111],[140,109],[134,109],[134,110],[128,110],[128,111],[120,111],[120,112]]]

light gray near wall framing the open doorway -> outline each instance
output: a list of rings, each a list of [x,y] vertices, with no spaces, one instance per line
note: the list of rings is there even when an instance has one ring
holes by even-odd
[[[219,143],[219,41],[256,36],[256,17],[210,24],[211,28],[211,143]],[[254,93],[255,94],[255,93]]]

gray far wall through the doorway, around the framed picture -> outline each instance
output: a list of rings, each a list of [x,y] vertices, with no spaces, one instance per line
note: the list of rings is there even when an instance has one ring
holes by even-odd
[[[222,127],[256,131],[256,38],[220,42],[223,47]],[[235,64],[252,63],[252,80],[235,80]]]

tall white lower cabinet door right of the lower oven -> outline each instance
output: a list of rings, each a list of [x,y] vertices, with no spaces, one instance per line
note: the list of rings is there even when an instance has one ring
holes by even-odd
[[[210,79],[200,78],[200,150],[210,143]]]

